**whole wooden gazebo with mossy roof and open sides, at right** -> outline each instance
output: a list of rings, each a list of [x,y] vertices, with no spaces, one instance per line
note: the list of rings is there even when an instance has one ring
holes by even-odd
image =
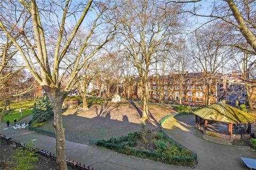
[[[227,139],[251,137],[254,117],[240,109],[219,102],[194,112],[196,127],[203,133]]]

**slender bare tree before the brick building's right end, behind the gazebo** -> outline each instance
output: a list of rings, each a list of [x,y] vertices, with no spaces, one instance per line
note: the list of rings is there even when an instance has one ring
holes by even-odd
[[[218,23],[198,30],[190,39],[194,70],[201,70],[202,77],[205,78],[201,78],[201,81],[207,86],[202,88],[206,105],[211,104],[213,81],[218,80],[217,74],[222,72],[230,59],[230,47],[223,46],[226,40],[225,33],[221,32],[221,24]]]

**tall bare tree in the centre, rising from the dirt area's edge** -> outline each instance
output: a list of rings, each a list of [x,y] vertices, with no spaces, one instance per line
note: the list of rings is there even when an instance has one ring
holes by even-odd
[[[125,1],[118,13],[121,21],[119,40],[123,50],[138,70],[142,94],[142,119],[148,119],[148,73],[153,56],[178,33],[179,6],[165,6],[160,1]]]

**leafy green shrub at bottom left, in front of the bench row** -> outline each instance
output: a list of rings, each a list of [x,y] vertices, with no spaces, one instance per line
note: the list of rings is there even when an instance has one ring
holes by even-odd
[[[35,162],[37,162],[37,154],[33,149],[33,145],[30,142],[29,147],[25,150],[17,148],[12,156],[13,168],[12,170],[30,170],[35,169]]]

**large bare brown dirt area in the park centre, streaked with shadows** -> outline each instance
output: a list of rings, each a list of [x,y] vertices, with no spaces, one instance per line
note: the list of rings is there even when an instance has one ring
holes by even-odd
[[[148,108],[150,119],[146,126],[151,129],[158,128],[164,116],[175,112],[171,107],[164,105],[149,104]],[[86,144],[90,139],[108,139],[138,131],[142,123],[141,111],[140,103],[128,101],[118,104],[95,104],[88,111],[68,110],[63,113],[66,139]],[[52,124],[53,120],[41,129],[54,132]]]

